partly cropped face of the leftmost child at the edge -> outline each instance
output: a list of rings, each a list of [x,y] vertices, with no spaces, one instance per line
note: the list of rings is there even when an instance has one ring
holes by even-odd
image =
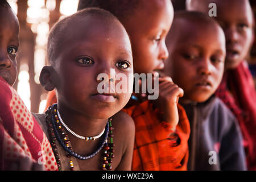
[[[12,86],[17,76],[19,22],[10,8],[0,7],[0,24],[0,76]]]

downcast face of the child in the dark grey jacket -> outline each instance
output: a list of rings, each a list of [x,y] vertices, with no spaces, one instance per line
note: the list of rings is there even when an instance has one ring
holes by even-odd
[[[184,90],[183,100],[208,100],[224,72],[225,35],[205,24],[179,19],[167,36],[170,57],[164,72]]]

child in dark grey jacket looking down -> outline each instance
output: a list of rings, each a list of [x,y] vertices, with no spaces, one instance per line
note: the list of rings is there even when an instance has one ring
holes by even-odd
[[[177,11],[166,41],[170,57],[164,73],[184,89],[180,102],[191,124],[188,169],[246,169],[237,121],[213,94],[224,72],[221,27],[204,14]]]

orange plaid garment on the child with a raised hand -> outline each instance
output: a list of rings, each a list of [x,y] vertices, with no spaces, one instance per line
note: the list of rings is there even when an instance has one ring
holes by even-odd
[[[178,105],[179,123],[173,132],[157,118],[150,101],[123,109],[135,122],[132,170],[187,170],[190,126],[185,110]]]

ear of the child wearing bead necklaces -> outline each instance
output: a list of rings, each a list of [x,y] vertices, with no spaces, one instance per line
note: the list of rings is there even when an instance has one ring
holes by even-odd
[[[51,66],[43,67],[40,73],[40,77],[39,77],[40,83],[43,86],[43,88],[46,89],[47,91],[51,91],[55,89],[53,73],[54,73],[54,69]]]

